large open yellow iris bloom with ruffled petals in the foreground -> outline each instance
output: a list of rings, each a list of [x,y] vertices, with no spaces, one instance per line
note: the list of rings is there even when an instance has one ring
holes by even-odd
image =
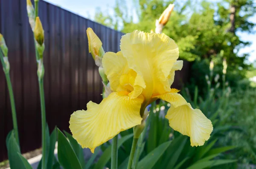
[[[121,51],[107,52],[102,65],[113,91],[100,104],[90,101],[87,110],[70,117],[70,130],[81,146],[94,149],[119,132],[141,124],[152,101],[163,99],[172,106],[166,118],[174,130],[190,137],[191,146],[201,146],[212,132],[212,123],[171,89],[179,50],[165,34],[133,31],[122,36]]]

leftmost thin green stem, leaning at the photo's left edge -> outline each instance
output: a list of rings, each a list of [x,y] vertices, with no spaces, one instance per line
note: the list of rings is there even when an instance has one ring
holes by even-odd
[[[3,54],[2,54],[1,50],[0,50],[0,60],[3,65],[3,70],[4,70],[4,73],[6,76],[6,83],[7,83],[7,87],[9,90],[9,96],[10,96],[11,108],[12,108],[12,123],[13,123],[14,132],[15,132],[15,138],[16,138],[18,146],[20,147],[19,130],[18,130],[18,124],[17,124],[14,94],[13,94],[13,90],[12,90],[12,82],[11,82],[11,78],[10,78],[9,68],[6,68],[6,64],[3,60]],[[8,64],[9,64],[9,62],[8,62]]]

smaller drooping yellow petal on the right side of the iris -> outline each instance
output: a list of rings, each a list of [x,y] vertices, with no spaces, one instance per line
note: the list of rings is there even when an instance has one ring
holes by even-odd
[[[166,118],[174,130],[190,137],[191,146],[202,146],[213,130],[212,122],[199,109],[189,103],[178,107],[171,106]]]

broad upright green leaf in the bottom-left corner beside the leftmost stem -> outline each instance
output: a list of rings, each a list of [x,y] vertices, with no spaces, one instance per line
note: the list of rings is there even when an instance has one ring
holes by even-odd
[[[20,158],[20,147],[17,144],[13,130],[9,132],[8,137],[6,138],[6,143],[10,168],[26,169],[23,159]]]

